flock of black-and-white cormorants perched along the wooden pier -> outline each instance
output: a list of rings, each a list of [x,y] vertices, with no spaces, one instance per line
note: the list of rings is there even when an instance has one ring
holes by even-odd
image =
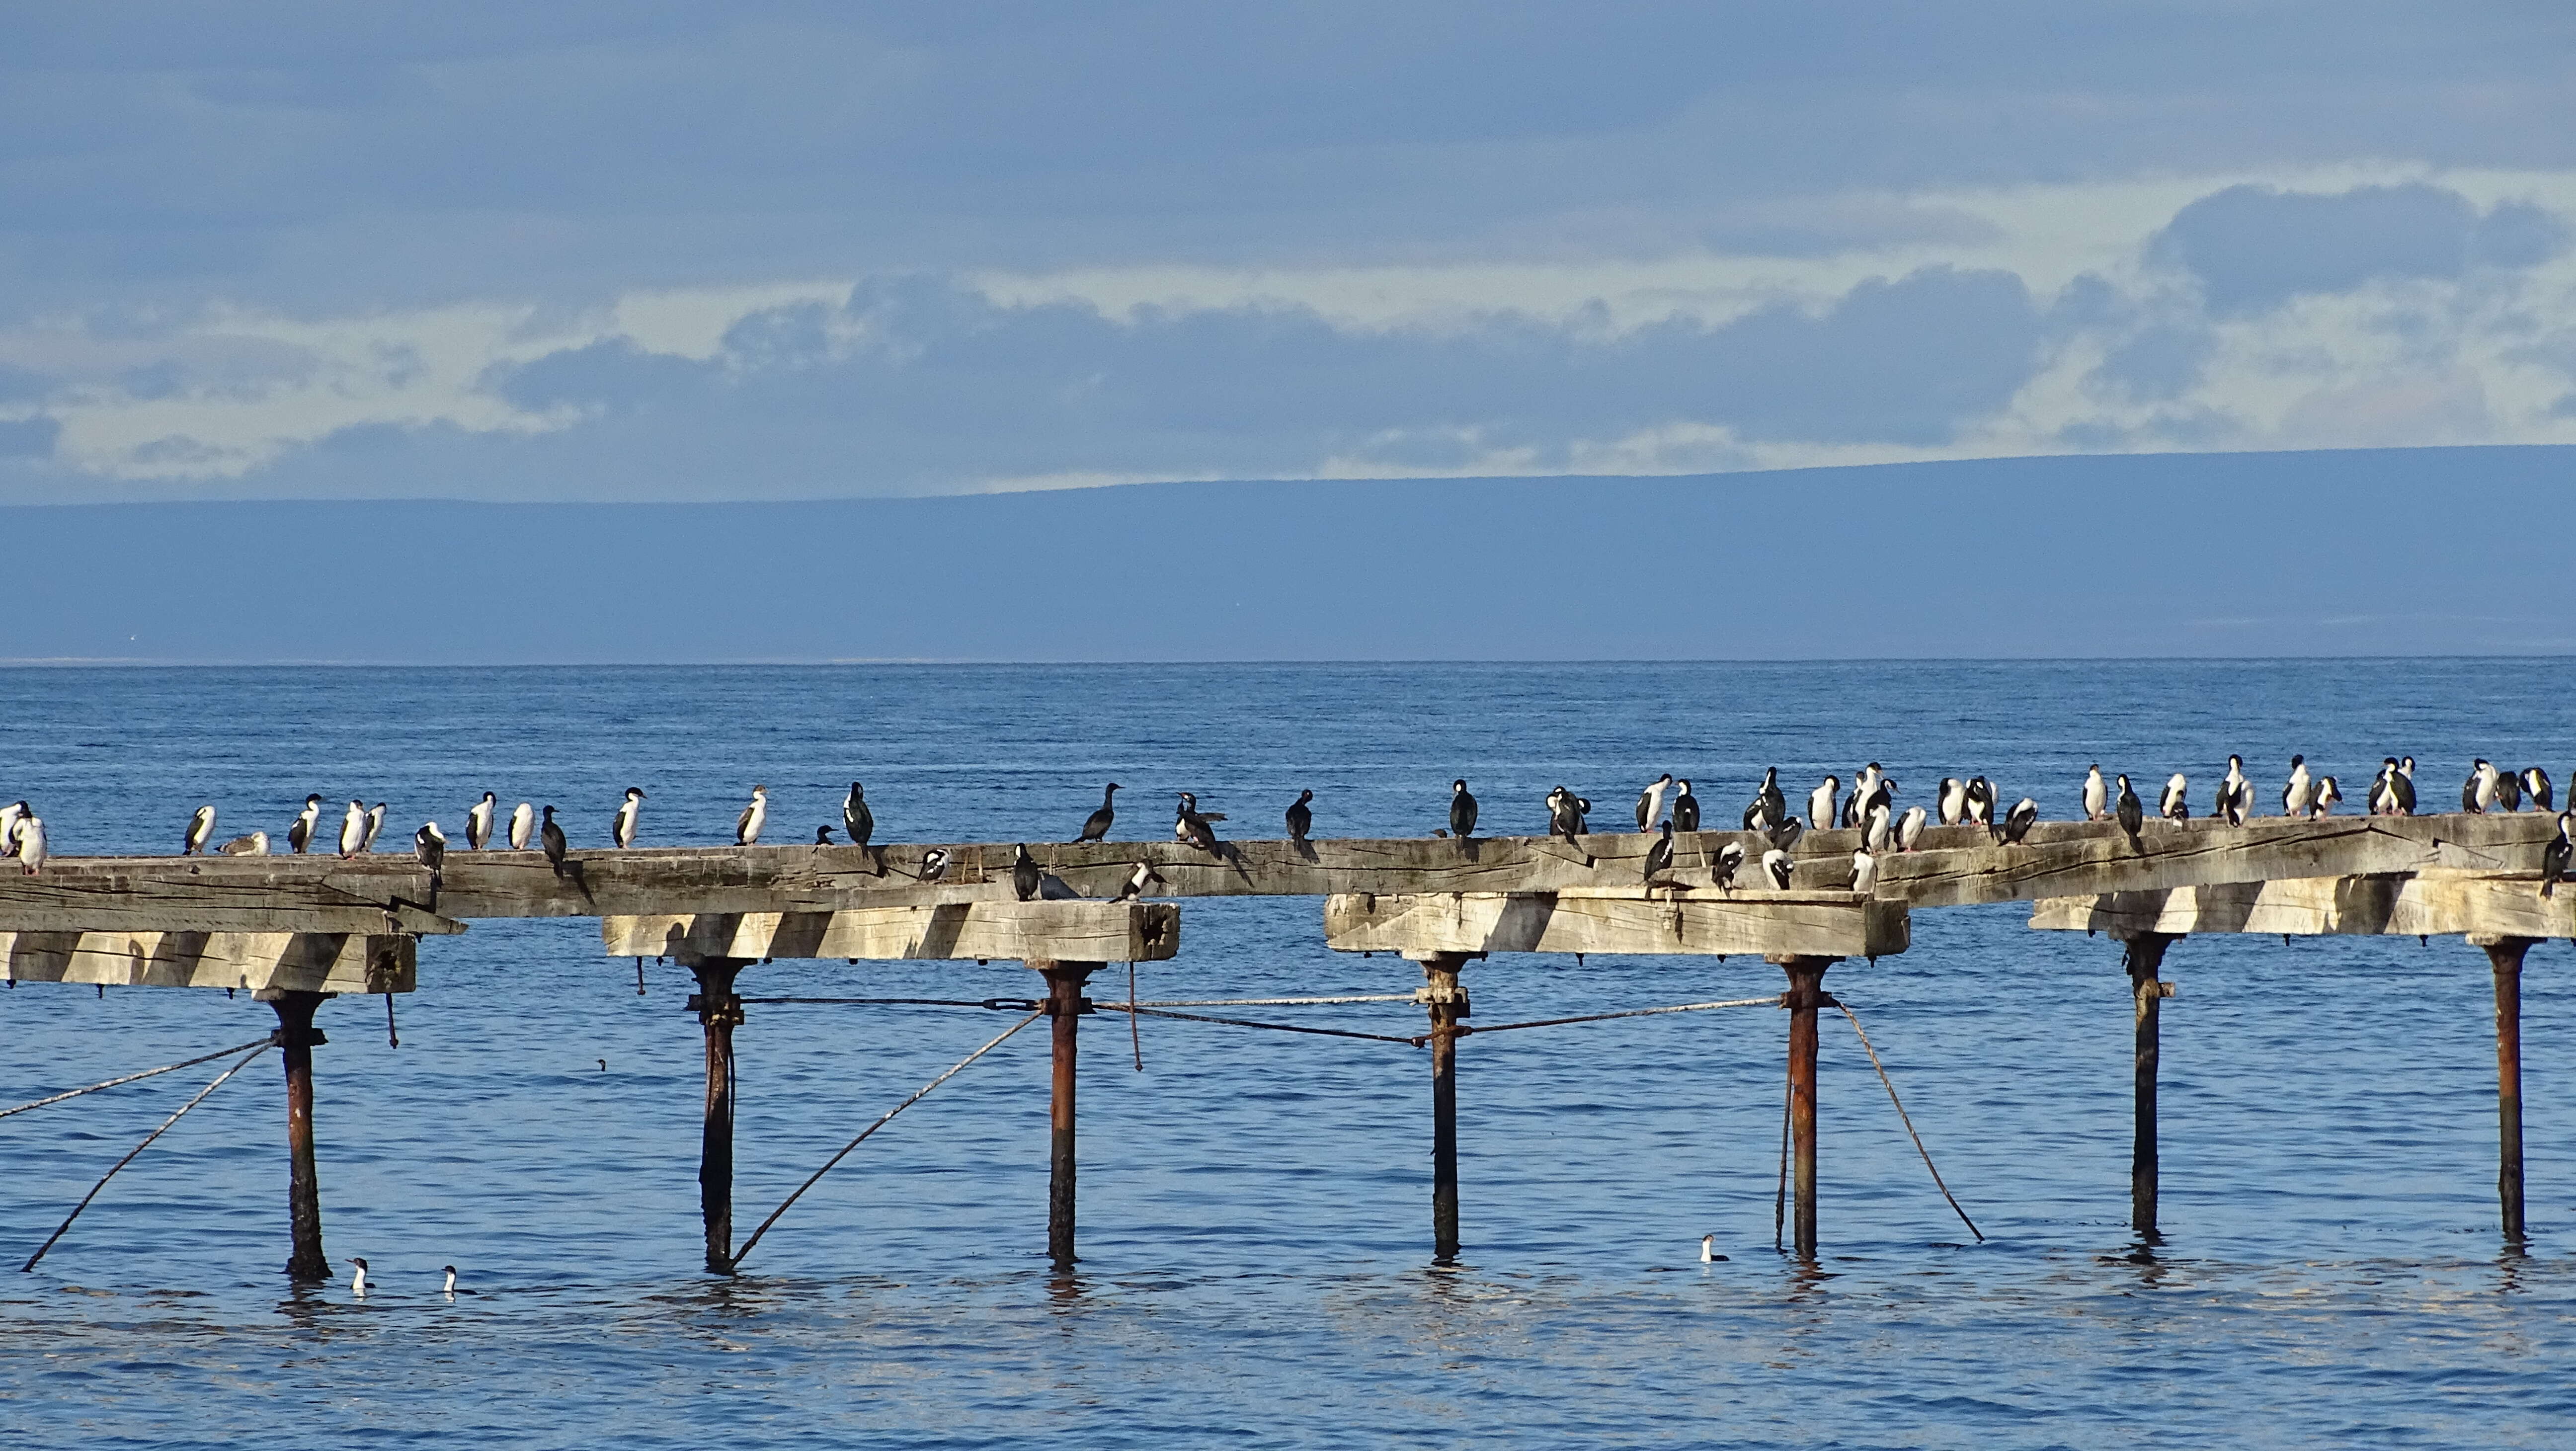
[[[2416,814],[2416,763],[2411,755],[2391,755],[2380,760],[2378,776],[2370,781],[2362,802],[2375,817],[2411,817]],[[1121,786],[1110,781],[1100,791],[1100,807],[1082,822],[1082,830],[1072,838],[1079,843],[1108,840],[1110,827],[1118,822],[1118,791]],[[1224,856],[1226,845],[1216,835],[1216,822],[1224,822],[1224,812],[1203,812],[1198,796],[1180,791],[1180,804],[1172,817],[1172,840],[1190,843],[1211,856]],[[1788,791],[1780,786],[1780,768],[1772,765],[1762,773],[1762,786],[1754,789],[1752,802],[1747,802],[1739,825],[1747,832],[1762,838],[1765,850],[1759,858],[1762,879],[1772,887],[1788,889],[1795,861],[1790,848],[1808,830],[1857,830],[1860,848],[1852,853],[1852,889],[1870,892],[1878,884],[1878,863],[1888,850],[1917,850],[1924,830],[1935,820],[1945,827],[1984,827],[1994,843],[2020,845],[2030,835],[2030,827],[2040,820],[2040,804],[2032,796],[2022,796],[2004,809],[1996,820],[1999,791],[1994,781],[1984,776],[1942,776],[1940,786],[1932,791],[1929,807],[1904,807],[1896,809],[1899,783],[1873,760],[1852,773],[1850,791],[1844,791],[1844,778],[1839,773],[1826,776],[1806,794],[1806,814],[1790,809]],[[2102,765],[2092,765],[2079,786],[2087,822],[2117,822],[2128,835],[2130,845],[2141,843],[2148,812],[2138,789],[2125,773],[2115,773],[2105,781]],[[2290,773],[2280,786],[2280,814],[2282,817],[2329,817],[2334,807],[2344,802],[2344,791],[2334,776],[2311,773],[2306,755],[2290,758]],[[1667,809],[1669,804],[1669,809]],[[2576,804],[2576,802],[2571,802]],[[2488,812],[2553,812],[2558,809],[2553,796],[2550,773],[2527,765],[2522,771],[2506,771],[2488,760],[2476,760],[2468,778],[2460,783],[2460,809],[2470,814]],[[368,807],[361,799],[350,799],[348,809],[340,814],[340,856],[366,856],[376,848],[376,832],[384,830],[384,802]],[[608,825],[608,840],[618,848],[631,848],[636,843],[636,830],[644,812],[644,789],[629,786],[626,799],[618,804]],[[1589,814],[1592,799],[1579,796],[1564,786],[1556,786],[1546,796],[1548,812],[1548,838],[1577,840],[1592,832]],[[2218,778],[2210,796],[2208,820],[2223,825],[2244,825],[2254,817],[2254,781],[2244,773],[2244,758],[2228,755],[2228,768]],[[1473,838],[1476,835],[1479,804],[1468,791],[1466,778],[1450,781],[1448,802],[1448,827],[1435,830],[1437,838]],[[2156,820],[2184,822],[2192,817],[2190,807],[2190,778],[2184,773],[2172,773],[2156,796]],[[734,820],[734,843],[757,845],[760,835],[768,830],[770,820],[770,789],[752,786],[750,804]],[[214,845],[214,804],[204,804],[188,817],[188,830],[180,838],[180,856],[198,856],[209,848],[229,856],[268,856],[270,838],[265,830],[237,835],[222,845]],[[554,807],[533,807],[520,802],[510,809],[507,822],[500,817],[500,796],[484,791],[479,802],[466,807],[464,814],[466,850],[487,850],[492,845],[492,832],[505,830],[510,850],[528,850],[536,840],[546,853],[546,863],[562,874],[564,861],[572,850],[564,827],[554,820]],[[1288,840],[1306,843],[1314,832],[1314,791],[1298,791],[1296,802],[1285,812]],[[304,809],[286,827],[286,848],[304,856],[322,840],[322,796],[304,796]],[[868,809],[868,791],[858,781],[850,781],[850,794],[840,807],[840,830],[848,835],[848,845],[871,850],[878,874],[884,874],[884,848],[873,848],[876,814]],[[1636,796],[1636,830],[1659,838],[1646,850],[1646,884],[1664,884],[1674,871],[1674,832],[1698,832],[1700,799],[1692,794],[1690,781],[1674,778],[1669,771],[1646,783]],[[814,845],[835,845],[832,827],[822,825],[814,830]],[[438,822],[422,822],[412,832],[412,853],[428,869],[440,869],[448,856],[448,835]],[[2576,812],[2558,812],[2558,835],[2543,850],[2543,892],[2555,889],[2576,856]],[[0,807],[0,861],[18,861],[21,871],[33,876],[44,869],[46,858],[46,830],[44,817],[39,817],[26,802]],[[1728,840],[1716,856],[1708,856],[1710,884],[1734,887],[1736,876],[1744,871],[1747,848],[1744,843]],[[948,853],[933,848],[922,856],[920,881],[938,881],[948,869]],[[1118,899],[1141,897],[1146,889],[1159,884],[1162,876],[1151,866],[1136,863],[1136,871],[1121,887]],[[1041,894],[1059,894],[1061,881],[1048,881],[1036,858],[1030,858],[1023,843],[1012,858],[1012,889],[1023,902]],[[1064,892],[1069,894],[1069,892]]]

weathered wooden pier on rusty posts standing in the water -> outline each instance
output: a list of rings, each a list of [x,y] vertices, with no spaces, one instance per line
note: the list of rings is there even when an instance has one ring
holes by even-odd
[[[1455,1155],[1458,1046],[1473,1033],[1463,972],[1497,951],[1618,956],[1762,956],[1785,974],[1788,1121],[1795,1253],[1819,1253],[1816,1013],[1826,972],[1904,954],[1917,907],[2030,902],[2040,930],[2102,933],[2123,946],[2136,1013],[2130,1214],[2156,1237],[2156,1059],[2172,943],[2202,933],[2458,936],[2488,956],[2496,987],[2499,1204],[2524,1237],[2519,972],[2535,941],[2576,938],[2576,894],[2543,894],[2555,817],[2434,814],[2215,822],[2040,822],[2017,845],[1984,827],[1932,827],[1919,850],[1880,856],[1852,892],[1857,832],[1806,832],[1790,889],[1759,874],[1752,832],[1677,832],[1672,871],[1646,881],[1654,835],[1231,840],[1030,845],[1038,899],[1012,887],[1012,845],[737,845],[574,850],[554,869],[533,850],[451,850],[440,871],[402,856],[54,858],[41,876],[0,874],[0,977],[252,990],[276,1005],[286,1046],[294,1255],[327,1273],[312,1160],[314,1008],[340,992],[412,992],[417,943],[477,918],[598,918],[611,956],[688,966],[688,1008],[706,1039],[701,1209],[706,1268],[734,1271],[734,1028],[739,974],[773,959],[1023,961],[1051,1018],[1048,1255],[1074,1263],[1074,1090],[1084,982],[1118,961],[1180,951],[1170,897],[1321,897],[1334,951],[1417,961],[1419,1039],[1432,1067],[1432,1258],[1461,1253]],[[1736,845],[1747,866],[1718,884]],[[938,856],[935,856],[938,853]],[[945,871],[927,863],[943,858]],[[1154,902],[1113,899],[1136,866]]]

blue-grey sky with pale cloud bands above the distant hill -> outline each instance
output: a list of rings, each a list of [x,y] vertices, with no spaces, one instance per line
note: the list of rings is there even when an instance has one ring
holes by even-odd
[[[2576,443],[2563,3],[13,10],[0,503]]]

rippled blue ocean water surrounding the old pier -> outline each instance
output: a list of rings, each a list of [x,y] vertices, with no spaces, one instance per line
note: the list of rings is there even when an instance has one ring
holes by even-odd
[[[1765,765],[1981,771],[2071,814],[2084,765],[2208,778],[2293,750],[2360,796],[2380,755],[2442,799],[2473,755],[2576,776],[2563,660],[2014,665],[1188,665],[672,670],[0,670],[0,799],[57,853],[175,850],[198,802],[281,832],[307,791],[459,832],[484,789],[598,843],[773,840],[866,778],[881,840],[1115,835],[1170,791],[1273,835],[1486,830],[1566,781],[1615,820],[1659,771],[1731,814]],[[389,835],[394,835],[389,830]],[[1319,946],[1314,899],[1193,899],[1149,997],[1401,992]],[[1942,1173],[1824,1026],[1824,1263],[1772,1253],[1785,1023],[1638,1018],[1461,1046],[1466,1265],[1430,1271],[1417,1049],[1113,1015],[1084,1026],[1082,1268],[1043,1258],[1046,1044],[1005,1044],[871,1139],[760,1245],[698,1268],[688,977],[590,920],[422,943],[420,992],[319,1023],[327,1247],[379,1289],[286,1283],[276,1057],[0,1276],[0,1441],[26,1446],[2558,1446],[2576,1394],[2576,997],[2524,979],[2530,1255],[2494,1204],[2486,961],[2458,941],[2208,938],[2164,977],[2164,1232],[2128,1229],[2120,951],[2025,907],[1917,912],[1837,966]],[[1412,974],[1412,977],[1409,977]],[[1749,997],[1752,959],[1492,959],[1479,1021]],[[1123,992],[1100,985],[1100,992]],[[1025,995],[1012,964],[770,964],[747,995]],[[1278,1010],[1417,1031],[1406,1005]],[[0,1103],[260,1036],[216,992],[0,992]],[[752,1008],[737,1224],[1005,1018]],[[605,1059],[605,1067],[600,1062]],[[15,1265],[188,1070],[0,1121]],[[1698,1263],[1716,1235],[1726,1263]],[[448,1302],[438,1265],[479,1294]]]

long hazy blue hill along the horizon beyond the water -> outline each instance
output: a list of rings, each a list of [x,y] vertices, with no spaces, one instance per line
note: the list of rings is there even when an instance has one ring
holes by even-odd
[[[2576,448],[716,505],[0,508],[0,657],[2576,652]]]

